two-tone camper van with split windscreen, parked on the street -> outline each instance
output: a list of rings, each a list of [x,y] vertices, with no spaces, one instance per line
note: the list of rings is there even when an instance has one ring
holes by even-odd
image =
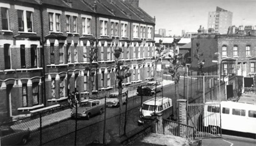
[[[156,108],[156,109],[155,109]],[[173,114],[173,104],[171,98],[167,97],[156,97],[151,98],[143,102],[142,107],[140,108],[140,116],[138,123],[142,124],[142,119],[145,116],[151,116],[151,113],[155,112],[162,113],[163,118],[169,118]]]

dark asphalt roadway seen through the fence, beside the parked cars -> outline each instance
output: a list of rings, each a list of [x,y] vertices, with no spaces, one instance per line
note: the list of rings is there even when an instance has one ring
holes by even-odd
[[[171,97],[173,103],[176,102],[174,93],[174,84],[164,87],[163,94],[165,97]],[[162,96],[162,93],[157,93],[157,96]],[[152,96],[143,96],[142,102],[154,98]],[[127,126],[126,133],[135,129],[137,121],[139,120],[139,108],[141,105],[141,97],[134,96],[128,98],[127,104]],[[105,124],[105,141],[109,142],[111,139],[119,135],[119,124],[121,124],[121,134],[123,133],[124,119],[125,119],[125,105],[122,107],[121,122],[119,120],[119,108],[106,109],[106,124]],[[74,119],[54,124],[50,127],[43,128],[42,143],[44,145],[74,145],[75,137],[75,123]],[[77,120],[77,145],[85,145],[98,140],[100,143],[103,141],[104,129],[104,113],[97,115],[89,120]],[[31,141],[27,145],[40,144],[40,131],[31,134]]]

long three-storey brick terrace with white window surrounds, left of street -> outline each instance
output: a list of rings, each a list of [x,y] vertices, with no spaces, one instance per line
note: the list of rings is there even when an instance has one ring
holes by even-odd
[[[154,76],[155,18],[139,0],[0,0],[0,11],[0,119],[61,106],[70,91],[86,98],[88,78],[94,94],[115,90],[117,47],[131,72],[123,85]]]

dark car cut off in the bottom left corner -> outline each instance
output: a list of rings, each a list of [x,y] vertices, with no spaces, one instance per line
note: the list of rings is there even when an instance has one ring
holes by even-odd
[[[30,130],[14,130],[11,127],[0,129],[1,146],[25,145],[30,139]]]

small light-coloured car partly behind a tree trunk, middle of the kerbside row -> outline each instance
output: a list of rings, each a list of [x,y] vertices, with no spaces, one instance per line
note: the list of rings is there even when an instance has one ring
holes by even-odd
[[[126,93],[126,91],[122,91],[122,103],[123,104],[126,103],[127,95],[125,93]],[[106,104],[108,107],[119,107],[120,106],[118,95],[119,95],[118,91],[109,94],[109,97],[106,99],[106,102],[107,102]]]

